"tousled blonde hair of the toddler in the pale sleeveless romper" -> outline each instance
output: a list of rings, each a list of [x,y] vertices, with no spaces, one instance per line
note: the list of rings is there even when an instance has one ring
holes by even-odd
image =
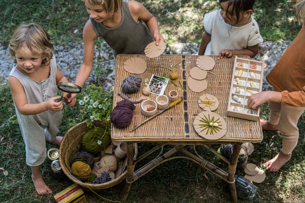
[[[16,63],[15,54],[23,46],[27,46],[33,54],[41,54],[41,64],[46,65],[53,57],[54,46],[50,42],[50,36],[40,25],[35,23],[20,24],[16,27],[9,41],[9,58]]]

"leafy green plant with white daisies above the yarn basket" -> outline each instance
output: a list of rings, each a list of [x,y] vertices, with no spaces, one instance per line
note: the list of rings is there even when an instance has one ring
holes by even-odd
[[[103,87],[94,84],[88,86],[77,96],[80,112],[77,118],[70,118],[70,125],[77,122],[87,121],[87,125],[92,125],[98,120],[110,123],[110,113],[112,111],[113,92],[106,91]]]

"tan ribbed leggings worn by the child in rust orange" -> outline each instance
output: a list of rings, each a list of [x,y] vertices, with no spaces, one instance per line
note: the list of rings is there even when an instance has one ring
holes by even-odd
[[[276,91],[274,88],[273,91]],[[305,107],[284,106],[277,102],[269,102],[269,119],[272,125],[278,125],[278,130],[283,136],[282,152],[290,154],[296,147],[299,139],[299,129],[296,124]]]

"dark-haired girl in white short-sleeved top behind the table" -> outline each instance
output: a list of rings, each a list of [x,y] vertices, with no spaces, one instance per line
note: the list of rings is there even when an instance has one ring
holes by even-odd
[[[207,13],[205,32],[198,55],[254,57],[263,42],[257,22],[251,16],[255,0],[219,0],[220,10]]]

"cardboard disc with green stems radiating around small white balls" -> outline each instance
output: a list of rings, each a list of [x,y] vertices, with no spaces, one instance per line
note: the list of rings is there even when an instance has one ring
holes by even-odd
[[[204,121],[206,121],[207,123],[210,123],[211,121],[216,121],[215,123],[218,124],[218,127],[213,127],[214,130],[212,130],[210,125],[203,126],[207,124]],[[202,136],[203,138],[206,138],[208,140],[217,140],[223,137],[227,132],[227,123],[224,121],[224,118],[214,112],[203,111],[199,113],[195,117],[193,125],[195,131],[199,134],[199,136]]]

